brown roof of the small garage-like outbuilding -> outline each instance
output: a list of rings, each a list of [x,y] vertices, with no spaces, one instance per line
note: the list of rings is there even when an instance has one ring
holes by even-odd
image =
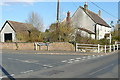
[[[16,32],[29,31],[29,30],[35,29],[32,24],[21,23],[21,22],[10,21],[10,20],[7,20],[5,22],[5,24],[6,23],[8,23],[11,26],[11,28]],[[5,26],[5,24],[4,24],[4,26]],[[2,29],[4,28],[4,26],[2,27]],[[2,29],[1,29],[1,31],[2,31]]]

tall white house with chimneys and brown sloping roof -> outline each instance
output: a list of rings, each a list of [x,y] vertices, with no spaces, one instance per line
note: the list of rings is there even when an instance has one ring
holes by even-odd
[[[110,34],[111,27],[101,18],[101,11],[98,14],[88,10],[87,3],[84,7],[80,6],[76,12],[70,17],[68,11],[66,19],[63,22],[71,22],[75,27],[77,34],[100,40],[105,34]]]

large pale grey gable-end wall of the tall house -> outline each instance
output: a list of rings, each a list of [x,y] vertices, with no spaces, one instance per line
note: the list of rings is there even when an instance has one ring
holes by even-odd
[[[81,8],[77,9],[71,21],[75,27],[83,27],[92,32],[95,31],[95,22]]]

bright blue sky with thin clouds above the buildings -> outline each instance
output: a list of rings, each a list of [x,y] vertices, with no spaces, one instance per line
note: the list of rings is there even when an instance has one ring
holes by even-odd
[[[88,2],[88,9],[98,13],[98,10],[102,11],[101,17],[110,24],[117,21],[118,17],[118,2],[94,2],[100,8]],[[83,6],[84,2],[60,2],[60,20],[66,17],[68,11],[71,12],[71,16],[77,10],[79,6]],[[56,2],[4,2],[0,3],[0,28],[3,26],[6,20],[25,22],[31,12],[36,12],[43,20],[44,30],[49,28],[50,24],[56,22]]]

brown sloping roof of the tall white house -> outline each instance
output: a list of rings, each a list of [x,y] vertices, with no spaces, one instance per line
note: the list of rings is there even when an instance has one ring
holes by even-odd
[[[100,16],[98,16],[98,14],[86,9],[80,6],[80,8],[97,24],[100,24],[100,25],[103,25],[103,26],[106,26],[106,27],[110,27]]]

